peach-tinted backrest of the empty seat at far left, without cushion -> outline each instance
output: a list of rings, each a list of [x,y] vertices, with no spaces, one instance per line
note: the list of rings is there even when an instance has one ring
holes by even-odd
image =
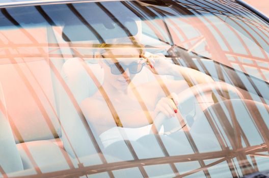
[[[0,81],[16,143],[61,135],[50,67],[44,59],[1,64]]]

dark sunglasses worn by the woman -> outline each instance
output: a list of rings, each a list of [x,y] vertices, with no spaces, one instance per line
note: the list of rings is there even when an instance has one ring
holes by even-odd
[[[127,69],[129,69],[129,72],[131,74],[137,74],[137,73],[141,72],[141,70],[143,69],[143,67],[146,64],[146,63],[140,64],[137,62],[131,63],[129,65],[123,65],[120,63],[109,64],[109,62],[107,62],[107,60],[104,60],[104,63],[110,67],[110,71],[114,75],[123,74]]]

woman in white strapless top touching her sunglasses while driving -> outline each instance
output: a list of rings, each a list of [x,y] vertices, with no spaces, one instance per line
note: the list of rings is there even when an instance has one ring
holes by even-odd
[[[159,75],[172,75],[182,79],[182,74],[184,78],[188,78],[186,74],[192,72],[192,75],[206,76],[196,70],[174,65],[165,57],[160,59],[157,55],[141,55],[140,51],[138,48],[112,46],[102,55],[95,56],[103,68],[104,80],[99,90],[85,99],[81,107],[104,145],[122,138],[119,132],[122,128],[127,128],[124,129],[126,132],[129,132],[128,128],[140,128],[136,133],[127,133],[126,139],[139,137],[141,132],[150,128],[149,125],[160,112],[168,117],[175,116],[180,100],[176,94],[189,85],[185,80],[162,80]],[[156,79],[134,84],[132,80],[143,67],[148,68]],[[97,112],[100,110],[103,112]]]

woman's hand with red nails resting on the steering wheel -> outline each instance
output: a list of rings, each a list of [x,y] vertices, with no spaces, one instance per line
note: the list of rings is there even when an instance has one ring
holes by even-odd
[[[175,116],[178,112],[177,105],[179,99],[177,94],[172,93],[169,97],[161,98],[154,109],[154,118],[158,115],[159,112],[162,112],[167,117]]]

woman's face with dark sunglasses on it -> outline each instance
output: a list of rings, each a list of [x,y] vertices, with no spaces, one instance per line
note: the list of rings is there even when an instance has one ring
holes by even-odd
[[[128,84],[143,68],[139,59],[138,49],[116,48],[102,54],[101,66],[104,70],[104,83],[110,84],[116,90],[126,90]]]

